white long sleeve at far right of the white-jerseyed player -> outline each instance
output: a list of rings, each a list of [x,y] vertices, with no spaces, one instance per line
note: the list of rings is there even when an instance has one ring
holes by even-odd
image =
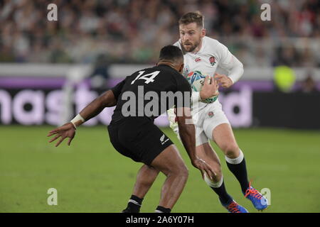
[[[233,81],[233,84],[238,82],[244,72],[242,63],[222,43],[218,44],[217,50],[220,67],[229,72],[228,77]]]

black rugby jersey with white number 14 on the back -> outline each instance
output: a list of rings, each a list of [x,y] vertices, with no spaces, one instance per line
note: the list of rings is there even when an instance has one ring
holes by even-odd
[[[112,121],[137,116],[154,121],[174,105],[191,107],[190,84],[169,65],[134,72],[111,90],[117,99]]]

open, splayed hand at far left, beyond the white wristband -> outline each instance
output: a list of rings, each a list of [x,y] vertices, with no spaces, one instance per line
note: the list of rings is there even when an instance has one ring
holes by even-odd
[[[65,139],[69,138],[68,145],[70,145],[71,141],[75,137],[75,127],[73,126],[73,123],[65,123],[63,126],[60,126],[58,128],[53,129],[53,131],[50,131],[47,136],[55,135],[52,139],[49,140],[49,143],[53,142],[54,140],[60,138],[58,143],[55,144],[55,147],[58,147],[58,145]]]

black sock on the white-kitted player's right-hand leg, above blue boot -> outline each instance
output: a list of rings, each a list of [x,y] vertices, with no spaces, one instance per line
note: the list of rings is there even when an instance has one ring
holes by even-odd
[[[240,183],[242,193],[245,194],[245,191],[249,187],[249,182],[247,181],[247,167],[245,166],[245,157],[243,157],[242,162],[239,164],[230,164],[227,162],[229,170],[235,175]]]

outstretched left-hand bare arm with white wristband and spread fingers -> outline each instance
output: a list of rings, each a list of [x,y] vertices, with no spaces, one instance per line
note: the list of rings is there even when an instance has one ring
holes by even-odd
[[[68,145],[70,145],[71,141],[75,137],[75,129],[80,126],[83,122],[89,120],[100,114],[100,112],[105,109],[105,107],[115,106],[117,104],[117,99],[115,99],[114,94],[111,90],[105,92],[101,96],[97,97],[97,99],[93,100],[89,105],[85,106],[80,114],[75,116],[73,120],[68,123],[65,123],[63,126],[53,129],[48,133],[48,136],[55,135],[55,137],[49,140],[49,143],[58,140],[58,143],[55,144],[56,147],[60,145],[60,143],[65,140],[65,138],[69,138]]]

